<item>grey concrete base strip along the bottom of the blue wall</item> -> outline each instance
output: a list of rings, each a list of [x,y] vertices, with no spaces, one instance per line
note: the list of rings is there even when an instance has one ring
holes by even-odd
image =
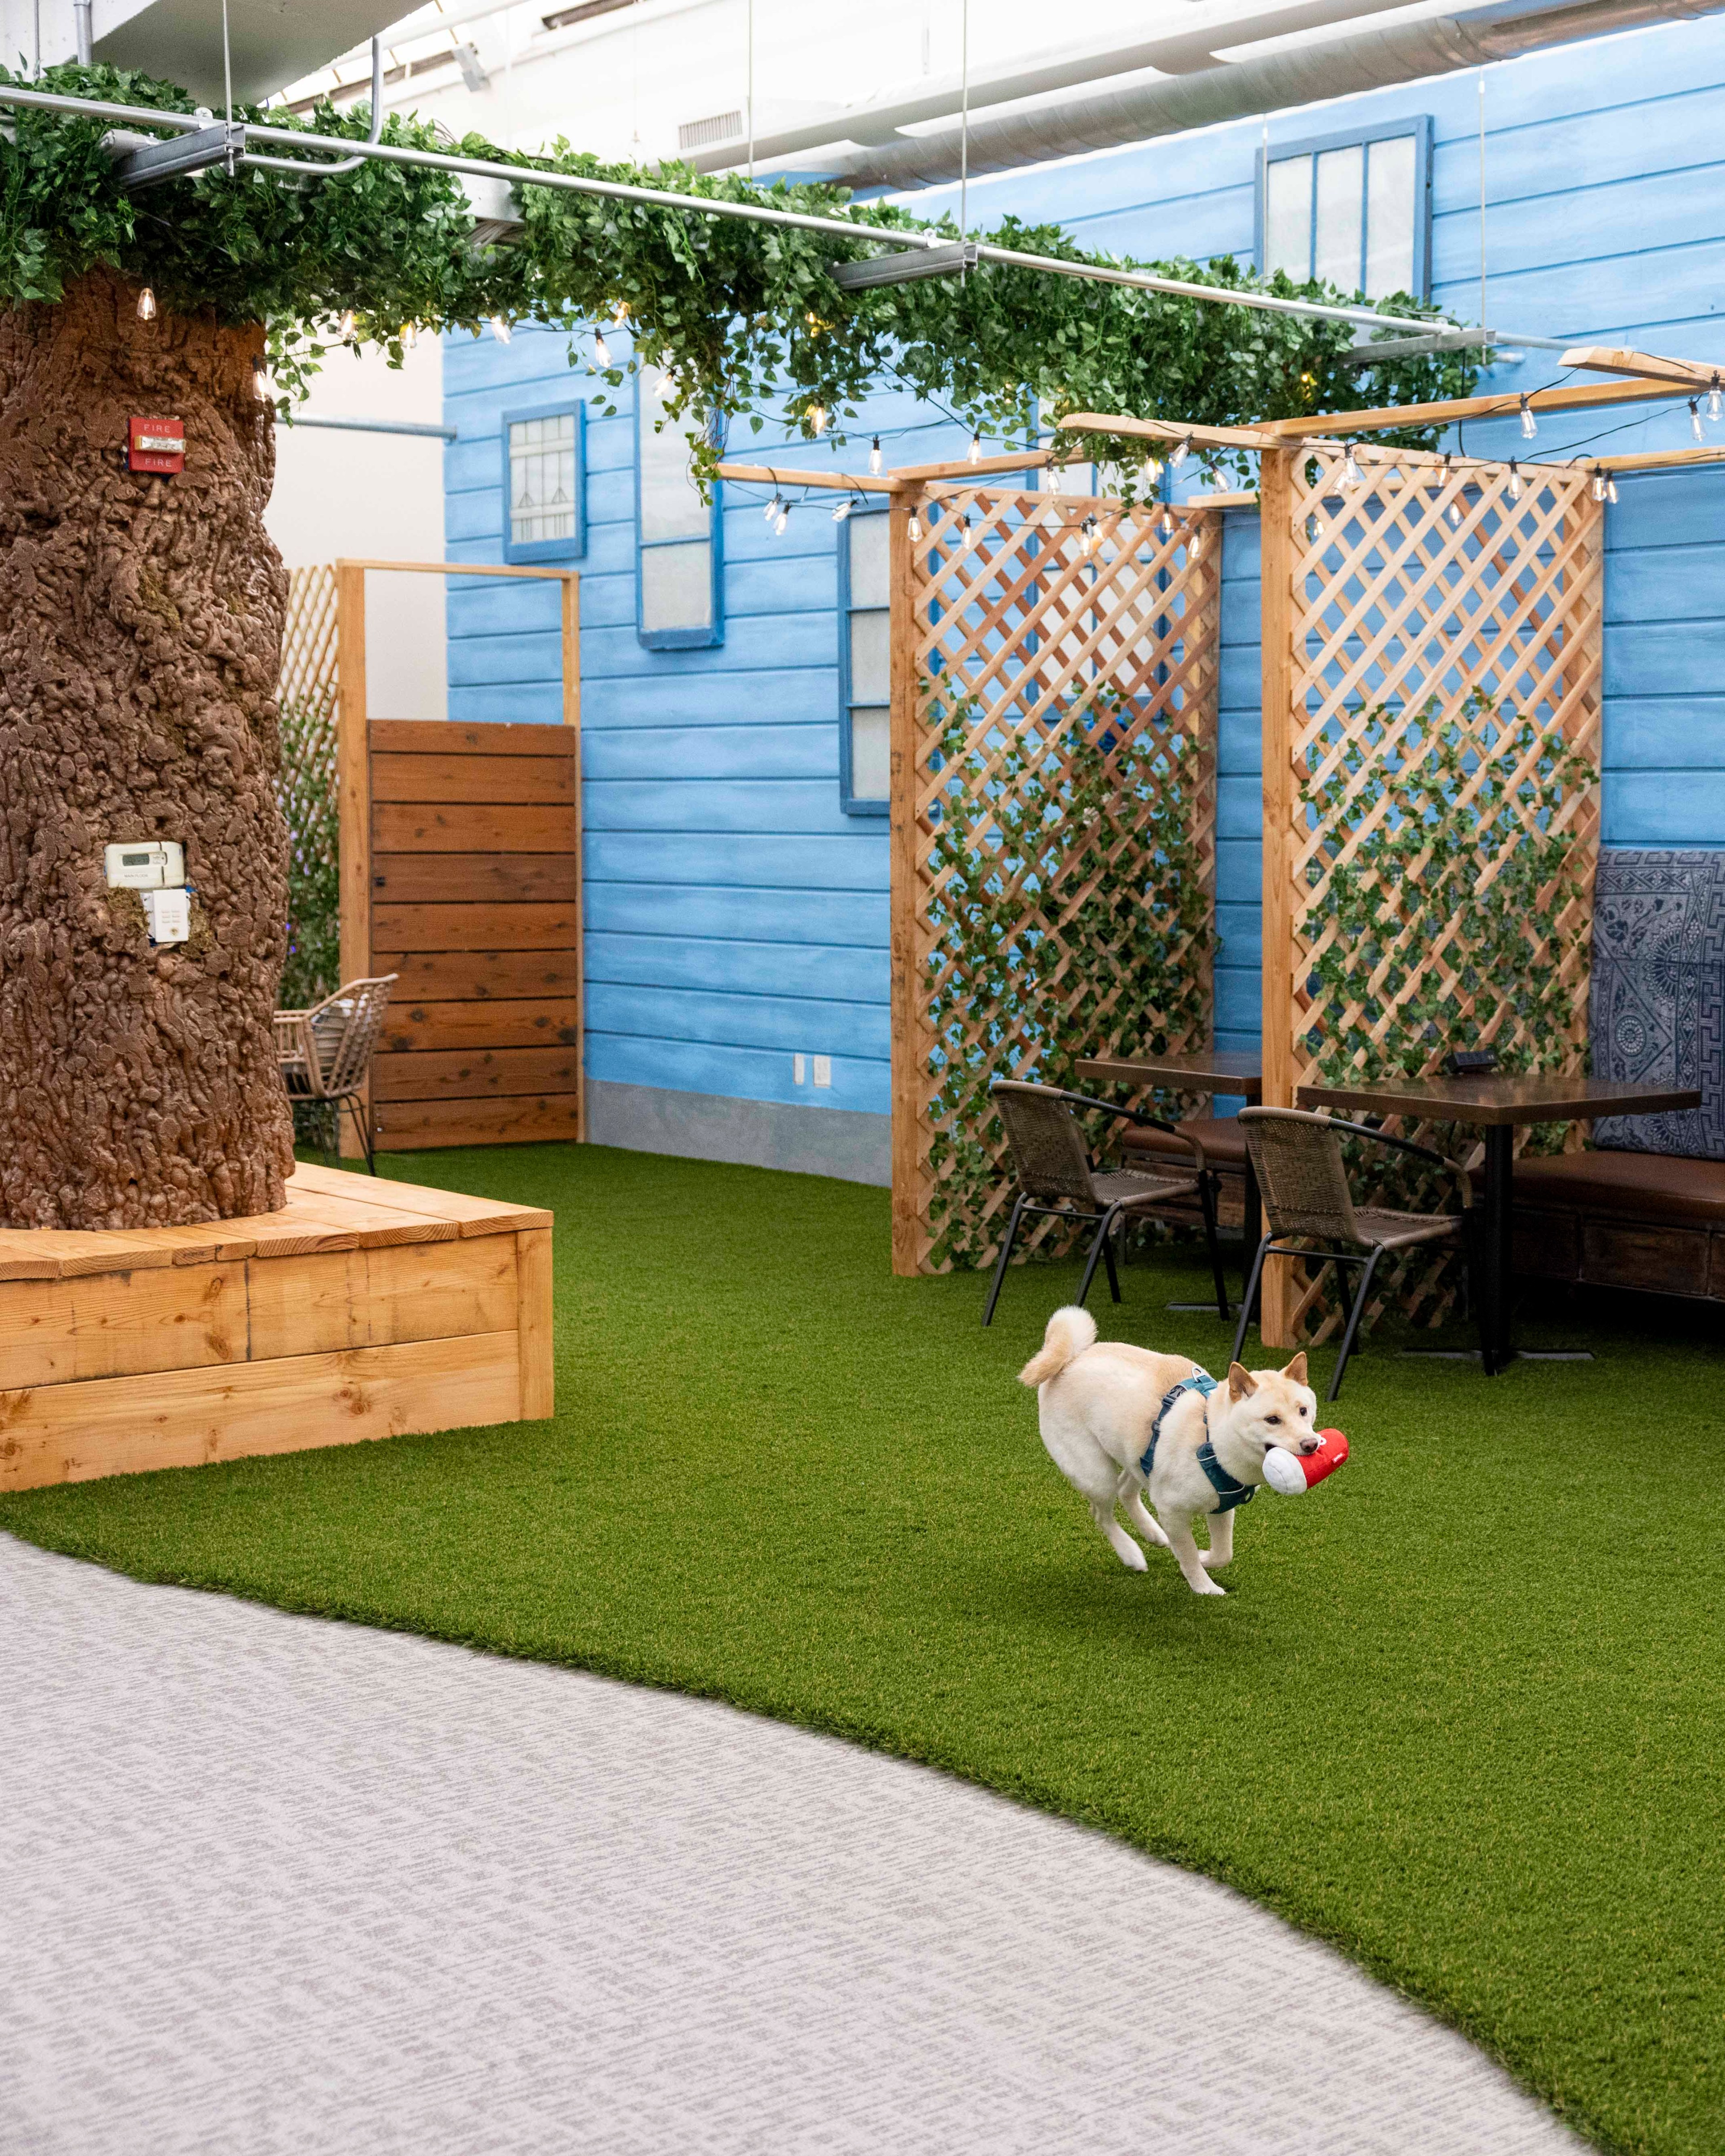
[[[854,1108],[791,1108],[722,1093],[586,1080],[586,1136],[632,1153],[733,1160],[746,1169],[893,1184],[893,1117]]]

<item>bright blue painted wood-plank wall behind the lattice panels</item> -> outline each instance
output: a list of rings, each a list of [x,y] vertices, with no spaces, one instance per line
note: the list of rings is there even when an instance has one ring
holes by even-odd
[[[1320,108],[1322,129],[1434,116],[1432,278],[1479,317],[1477,75]],[[1276,114],[1270,142],[1309,136]],[[1052,218],[1141,257],[1251,259],[1259,121],[970,185],[972,222]],[[916,198],[957,207],[955,190]],[[1725,22],[1572,45],[1486,73],[1486,313],[1535,336],[1639,343],[1725,362]],[[1512,399],[1555,354],[1494,369]],[[448,552],[502,543],[498,412],[591,392],[565,338],[453,338],[446,356]],[[526,392],[526,395],[524,395]],[[891,461],[957,455],[964,429],[901,395],[873,399],[845,459],[880,431]],[[1725,427],[1716,429],[1725,442]],[[1537,455],[1682,446],[1675,410],[1542,423]],[[742,438],[737,455],[826,464],[826,446]],[[1514,420],[1466,429],[1516,455]],[[582,673],[589,875],[589,1072],[634,1084],[886,1110],[886,834],[839,811],[834,537],[815,500],[774,539],[727,500],[727,638],[649,653],[634,636],[630,416],[589,418]],[[748,489],[750,494],[757,489]],[[1622,483],[1606,524],[1604,837],[1725,845],[1725,470]],[[1257,528],[1223,552],[1216,1026],[1257,1041]],[[556,718],[556,621],[533,586],[451,593],[451,716]],[[834,1056],[830,1093],[791,1084],[796,1050]]]

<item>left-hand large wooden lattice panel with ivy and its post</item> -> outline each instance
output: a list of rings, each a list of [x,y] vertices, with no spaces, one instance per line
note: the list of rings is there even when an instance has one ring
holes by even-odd
[[[996,1240],[990,1078],[1208,1041],[1216,860],[1220,520],[994,489],[916,517],[893,509],[899,1272]],[[1147,964],[1173,1007],[1141,1007]]]

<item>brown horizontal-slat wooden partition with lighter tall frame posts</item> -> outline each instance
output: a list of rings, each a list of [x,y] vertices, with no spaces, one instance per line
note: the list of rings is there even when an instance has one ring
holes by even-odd
[[[371,1072],[377,1145],[582,1138],[576,582],[561,727],[367,722],[349,690],[362,602],[345,599],[341,970],[399,975]]]

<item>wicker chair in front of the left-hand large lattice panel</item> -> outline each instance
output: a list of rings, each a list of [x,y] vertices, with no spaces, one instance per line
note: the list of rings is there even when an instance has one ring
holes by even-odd
[[[1210,1246],[1210,1272],[1216,1281],[1216,1309],[1227,1324],[1227,1287],[1223,1287],[1223,1259],[1216,1248],[1216,1177],[1203,1158],[1197,1138],[1186,1138],[1173,1123],[1145,1115],[1138,1108],[1115,1108],[1106,1100],[1091,1100],[1087,1093],[1065,1093],[1052,1084],[1024,1084],[1016,1078],[996,1078],[990,1100],[1000,1110],[1007,1128],[1013,1169],[1018,1171],[1018,1197],[1000,1244],[1000,1259],[994,1266],[994,1281],[988,1289],[983,1324],[994,1322],[994,1304],[1000,1300],[1000,1283],[1011,1263],[1018,1242],[1018,1225],[1024,1214],[1048,1214],[1057,1220],[1095,1220],[1091,1255],[1085,1263],[1085,1279],[1078,1287],[1078,1302],[1091,1291],[1098,1259],[1108,1266],[1108,1291],[1119,1302],[1119,1272],[1115,1272],[1113,1233],[1123,1220],[1160,1212],[1171,1199],[1197,1199],[1203,1210],[1203,1238]],[[1184,1138],[1192,1153],[1190,1169],[1121,1169],[1117,1175],[1098,1175],[1085,1132],[1074,1117],[1074,1108],[1095,1108],[1100,1115],[1115,1115],[1128,1123],[1147,1123],[1156,1130]]]

